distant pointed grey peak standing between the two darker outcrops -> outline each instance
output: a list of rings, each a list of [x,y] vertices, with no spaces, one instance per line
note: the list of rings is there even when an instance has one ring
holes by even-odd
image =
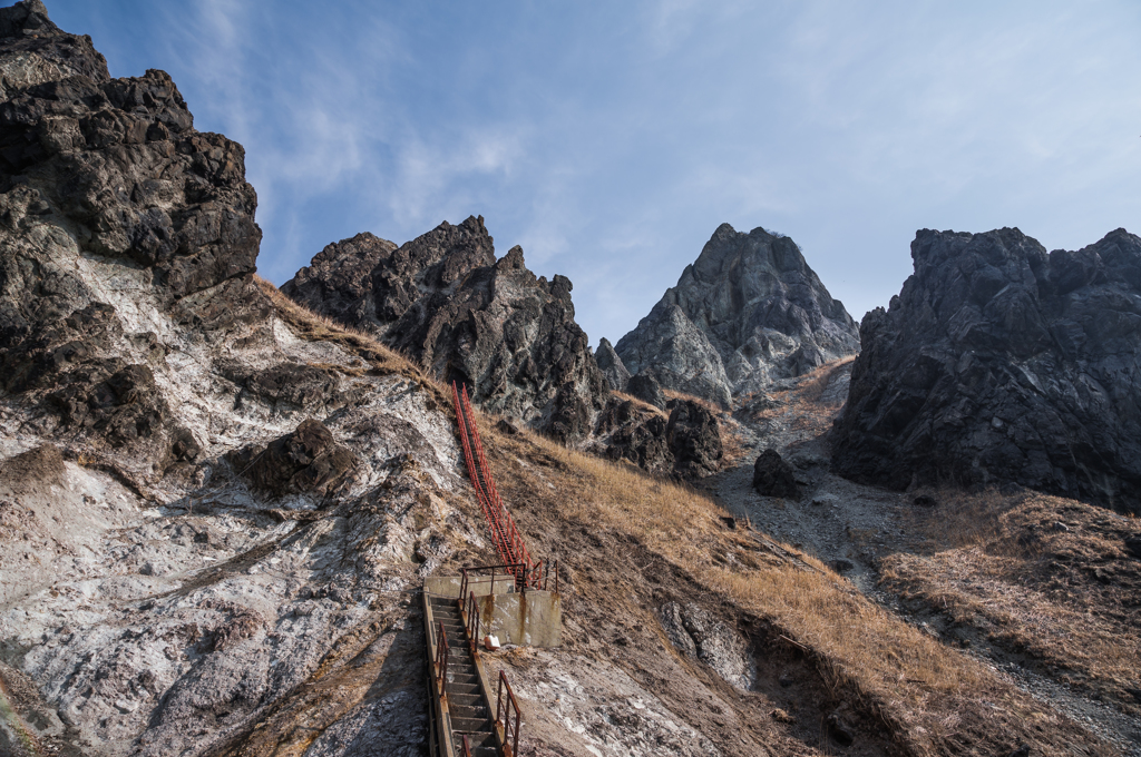
[[[856,324],[796,244],[722,223],[677,286],[614,348],[626,369],[728,407],[859,349]]]

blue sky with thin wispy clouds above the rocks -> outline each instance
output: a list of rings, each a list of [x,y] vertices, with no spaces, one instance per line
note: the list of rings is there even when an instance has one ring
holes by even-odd
[[[277,284],[484,215],[617,341],[721,222],[858,320],[919,228],[1141,233],[1141,2],[46,0],[246,149]]]

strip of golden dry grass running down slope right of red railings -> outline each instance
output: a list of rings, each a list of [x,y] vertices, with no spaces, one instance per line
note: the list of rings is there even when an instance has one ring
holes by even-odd
[[[1060,726],[1055,715],[982,665],[880,609],[812,557],[782,545],[816,570],[755,559],[756,542],[747,532],[726,530],[725,513],[694,490],[536,434],[508,439],[497,437],[486,421],[480,426],[508,453],[494,459],[526,457],[531,467],[542,471],[542,482],[520,483],[528,473],[493,463],[496,478],[508,481],[509,489],[531,489],[542,498],[549,496],[550,485],[558,495],[541,505],[544,511],[599,531],[629,535],[707,591],[768,619],[817,656],[837,691],[858,698],[892,724],[913,754],[947,754],[955,743],[970,743],[982,733],[1001,741],[1012,723]]]

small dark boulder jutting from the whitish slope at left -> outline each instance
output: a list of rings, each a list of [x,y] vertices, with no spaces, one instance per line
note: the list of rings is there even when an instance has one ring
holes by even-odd
[[[230,463],[256,487],[276,495],[327,495],[350,479],[357,458],[323,423],[309,418],[268,447],[230,456]]]

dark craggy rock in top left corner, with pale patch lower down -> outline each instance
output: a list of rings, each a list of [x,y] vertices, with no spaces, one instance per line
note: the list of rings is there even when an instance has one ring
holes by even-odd
[[[38,0],[0,9],[0,384],[159,470],[199,442],[161,399],[168,348],[136,304],[209,331],[260,298],[244,152],[193,124],[165,73],[112,79]]]

